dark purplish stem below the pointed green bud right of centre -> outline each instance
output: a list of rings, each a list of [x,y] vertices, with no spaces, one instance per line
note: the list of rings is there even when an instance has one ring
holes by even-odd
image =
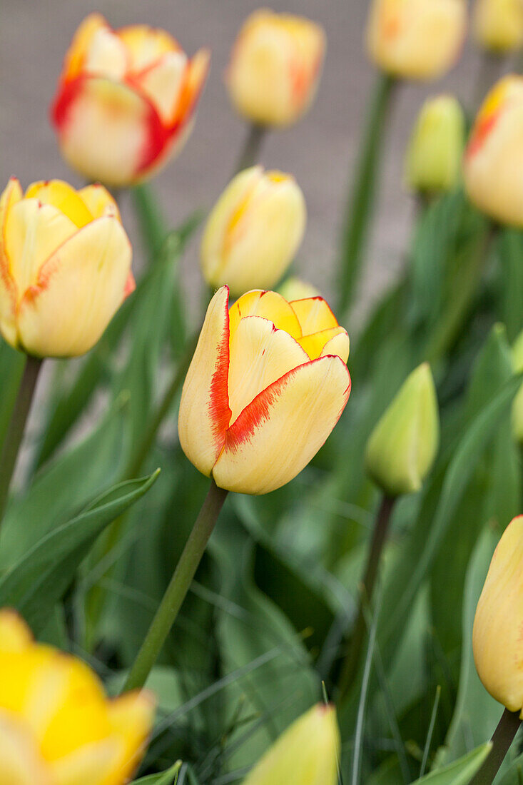
[[[338,680],[340,701],[343,701],[343,699],[346,698],[357,673],[357,667],[360,664],[361,649],[364,644],[366,629],[364,609],[371,603],[372,593],[378,577],[382,550],[389,533],[390,518],[395,502],[395,498],[384,494],[379,506],[378,515],[376,516],[371,546],[368,552],[367,567],[365,568],[364,579],[360,586],[360,601],[358,604],[356,623],[353,627],[349,652],[343,662]]]

